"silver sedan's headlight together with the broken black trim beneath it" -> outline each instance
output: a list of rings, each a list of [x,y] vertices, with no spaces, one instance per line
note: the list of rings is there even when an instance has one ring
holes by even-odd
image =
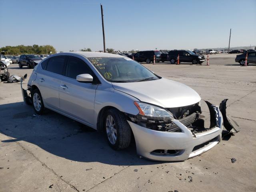
[[[139,114],[137,115],[138,120],[148,122],[170,122],[173,119],[171,112],[143,102],[134,102],[134,105],[138,108]]]

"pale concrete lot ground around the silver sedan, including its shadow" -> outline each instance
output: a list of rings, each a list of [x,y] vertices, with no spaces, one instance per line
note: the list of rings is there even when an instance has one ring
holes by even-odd
[[[213,104],[228,98],[227,112],[240,125],[234,136],[184,162],[139,158],[134,144],[114,151],[103,134],[52,111],[32,117],[20,84],[0,83],[0,191],[256,191],[256,65],[240,66],[235,56],[210,55],[210,66],[144,64]],[[10,74],[31,72],[10,65]]]

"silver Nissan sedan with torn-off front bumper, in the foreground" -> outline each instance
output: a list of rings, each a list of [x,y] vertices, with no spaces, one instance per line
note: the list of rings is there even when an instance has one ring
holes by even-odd
[[[31,97],[22,88],[24,101],[31,99],[36,113],[48,108],[103,131],[115,150],[127,148],[133,135],[137,153],[151,160],[181,161],[209,150],[227,119],[226,101],[222,109],[207,102],[211,125],[205,128],[192,88],[117,54],[51,55],[35,66],[28,90]],[[230,132],[238,130],[225,122]]]

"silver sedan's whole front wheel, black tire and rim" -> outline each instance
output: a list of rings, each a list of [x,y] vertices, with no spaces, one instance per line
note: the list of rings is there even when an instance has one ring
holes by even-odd
[[[121,150],[130,145],[132,130],[126,121],[126,118],[119,110],[114,108],[109,109],[103,124],[106,139],[111,148],[114,150]],[[114,126],[111,128],[113,124]]]

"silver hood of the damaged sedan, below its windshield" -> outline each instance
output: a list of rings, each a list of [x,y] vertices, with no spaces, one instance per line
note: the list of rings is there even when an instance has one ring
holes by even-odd
[[[192,88],[165,78],[143,82],[112,83],[112,85],[115,90],[163,108],[188,106],[201,100]]]

